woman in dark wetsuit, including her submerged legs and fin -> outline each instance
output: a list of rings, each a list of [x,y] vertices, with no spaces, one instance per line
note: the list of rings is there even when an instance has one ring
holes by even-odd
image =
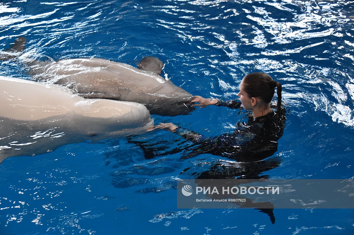
[[[278,104],[270,105],[277,88]],[[208,138],[199,133],[192,132],[173,123],[160,123],[160,125],[148,128],[165,129],[181,135],[183,138],[195,143],[196,147],[189,156],[200,153],[211,153],[236,159],[236,162],[223,162],[216,160],[216,164],[210,164],[209,170],[198,172],[198,166],[194,164],[184,169],[180,174],[189,172],[189,176],[196,179],[267,179],[264,171],[278,167],[281,158],[273,157],[264,161],[264,158],[272,156],[278,147],[278,140],[284,130],[285,110],[281,107],[281,84],[274,81],[266,73],[247,74],[241,81],[239,100],[224,102],[218,99],[207,99],[196,96],[192,102],[199,103],[194,106],[206,107],[209,105],[225,106],[229,108],[241,108],[252,110],[248,115],[248,122],[238,123],[238,127],[232,134],[222,134],[218,137]],[[274,109],[272,109],[272,108]],[[190,148],[188,148],[190,150]],[[242,162],[242,163],[240,163]],[[188,173],[187,173],[188,174]],[[206,182],[199,182],[199,186],[210,186]],[[213,195],[214,198],[224,199],[223,195]],[[240,197],[241,198],[241,197]],[[245,198],[247,199],[247,198]],[[247,199],[247,203],[236,203],[240,207],[273,206],[269,202],[253,202]],[[269,204],[269,205],[265,205]],[[271,208],[271,207],[267,207]],[[266,213],[272,224],[275,223],[273,209],[257,209]]]

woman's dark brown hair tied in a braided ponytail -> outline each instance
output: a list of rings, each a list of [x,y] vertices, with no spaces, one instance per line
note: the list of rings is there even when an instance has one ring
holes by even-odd
[[[269,104],[274,96],[275,87],[278,95],[278,117],[276,123],[279,123],[281,116],[281,84],[275,82],[267,73],[250,73],[244,79],[244,90],[249,98],[258,97],[264,103]]]

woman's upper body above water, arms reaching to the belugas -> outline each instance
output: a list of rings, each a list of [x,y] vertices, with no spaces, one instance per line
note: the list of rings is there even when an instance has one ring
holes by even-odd
[[[278,104],[271,108],[270,102],[277,88]],[[224,102],[219,99],[207,99],[196,96],[192,102],[194,106],[204,108],[209,105],[225,106],[229,108],[244,108],[252,111],[248,115],[247,123],[238,123],[238,128],[231,134],[222,134],[217,137],[205,137],[199,133],[178,127],[173,123],[160,123],[148,128],[165,129],[181,135],[192,141],[198,147],[195,153],[212,153],[225,155],[241,161],[259,161],[272,156],[276,151],[277,141],[284,129],[285,112],[281,107],[281,84],[266,73],[247,74],[241,81],[239,100]]]

